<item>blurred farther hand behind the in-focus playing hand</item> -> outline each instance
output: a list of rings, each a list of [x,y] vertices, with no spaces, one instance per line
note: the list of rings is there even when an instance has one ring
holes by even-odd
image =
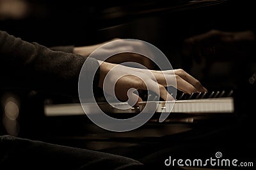
[[[106,41],[104,43],[100,43],[97,45],[91,45],[91,46],[79,46],[74,48],[74,53],[79,55],[84,55],[88,57],[90,53],[92,53],[94,50],[99,48],[100,50],[97,51],[97,59],[98,60],[104,60],[100,58],[103,55],[100,55],[100,53],[104,53],[104,55],[111,56],[113,53],[118,52],[120,50],[122,51],[132,51],[134,48],[140,49],[140,51],[147,51],[147,46],[145,46],[144,43],[141,43],[140,41],[118,41],[117,43],[109,43],[111,41],[120,40],[119,38],[111,39],[110,41]],[[106,43],[109,43],[108,46],[102,46]],[[95,57],[95,56],[93,56]],[[113,55],[109,57],[106,62],[111,62],[115,64],[121,64],[123,62],[136,62],[138,64],[142,64],[143,66],[147,67],[148,69],[155,69],[154,62],[149,60],[147,57],[144,57],[143,55],[139,55],[137,53],[118,53],[116,55]]]

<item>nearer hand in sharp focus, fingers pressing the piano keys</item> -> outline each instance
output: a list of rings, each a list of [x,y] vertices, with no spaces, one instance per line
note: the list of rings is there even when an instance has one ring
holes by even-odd
[[[99,87],[103,88],[104,83],[106,83],[106,86],[104,87],[105,89],[103,89],[110,94],[111,89],[115,87],[115,96],[122,101],[127,101],[127,96],[129,96],[129,98],[131,97],[131,101],[135,101],[134,103],[136,104],[142,101],[138,95],[129,92],[129,89],[131,88],[151,90],[156,92],[156,94],[159,94],[164,101],[173,100],[173,97],[165,89],[167,86],[173,86],[189,94],[193,92],[207,91],[198,80],[182,69],[154,71],[102,61],[99,61],[99,63]]]

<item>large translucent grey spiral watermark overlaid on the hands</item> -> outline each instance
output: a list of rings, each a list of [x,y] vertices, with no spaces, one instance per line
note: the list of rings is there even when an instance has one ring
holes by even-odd
[[[147,57],[147,59],[152,60],[152,62],[154,62],[161,71],[172,70],[172,65],[170,64],[169,60],[167,59],[167,57],[164,55],[163,52],[161,52],[158,48],[156,48],[156,46],[151,45],[150,43],[147,43],[145,41],[137,40],[137,39],[120,39],[116,41],[111,41],[97,48],[95,51],[93,51],[90,54],[89,57],[106,61],[107,59],[109,59],[109,57],[122,54],[122,53],[135,53],[137,55]],[[141,71],[136,71],[136,70],[132,71],[131,67],[132,69],[138,69],[139,67]],[[86,71],[88,68],[90,68],[90,71],[92,70],[93,73],[90,73],[90,74],[87,73]],[[127,71],[120,73],[120,70],[127,70]],[[132,118],[118,119],[118,118],[109,117],[109,115],[104,113],[104,111],[102,111],[100,107],[97,105],[97,102],[93,94],[93,78],[97,73],[97,71],[99,71],[99,66],[92,66],[92,62],[90,62],[90,60],[86,60],[83,64],[83,67],[81,68],[81,72],[79,74],[79,83],[78,83],[78,92],[79,92],[79,99],[80,99],[81,106],[84,110],[84,113],[86,113],[88,118],[90,118],[90,120],[92,120],[94,124],[98,125],[99,127],[102,127],[103,129],[107,129],[109,131],[115,131],[115,132],[131,131],[145,124],[154,115],[156,108],[152,109],[151,105],[146,104],[143,110],[140,111],[140,114]],[[106,98],[106,100],[111,106],[115,107],[118,110],[124,110],[124,109],[127,110],[129,108],[132,108],[132,104],[135,104],[138,99],[138,96],[136,98],[134,97],[136,95],[133,95],[133,94],[138,94],[137,89],[131,88],[127,91],[127,96],[128,96],[127,103],[129,103],[129,105],[131,106],[128,108],[127,107],[124,108],[124,105],[122,105],[122,102],[119,101],[115,95],[116,82],[123,76],[127,76],[127,75],[136,76],[137,78],[140,78],[145,83],[145,85],[147,86],[148,94],[149,94],[150,90],[155,87],[152,87],[152,85],[148,83],[148,80],[145,80],[145,76],[144,76],[145,74],[151,74],[151,76],[154,76],[152,72],[147,69],[147,67],[137,62],[124,62],[122,64],[116,65],[108,72],[108,74],[104,79],[104,83],[103,83],[104,97]],[[157,82],[156,78],[152,78],[152,80]],[[172,87],[177,87],[176,80],[172,80]],[[175,97],[177,89],[172,87],[168,86],[167,90],[170,94],[173,94],[173,97]],[[157,90],[158,90],[157,94],[159,94],[158,87],[157,87]],[[89,103],[88,103],[88,99],[91,99]],[[159,97],[156,101],[159,101]],[[111,103],[115,103],[115,106],[112,105]],[[116,104],[116,103],[120,103],[120,104]],[[90,107],[92,106],[92,104],[93,106],[95,106],[93,108],[93,113],[92,113],[92,107]],[[170,108],[173,108],[174,102],[170,104],[172,105]],[[118,106],[122,106],[122,107],[118,107]],[[159,118],[159,122],[163,122],[168,117],[169,114],[170,113],[164,113],[164,114],[162,113]]]

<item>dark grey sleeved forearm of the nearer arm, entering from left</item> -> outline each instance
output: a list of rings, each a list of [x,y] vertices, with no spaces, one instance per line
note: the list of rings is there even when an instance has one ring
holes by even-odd
[[[19,77],[33,89],[52,92],[77,93],[81,67],[87,59],[81,55],[52,51],[38,43],[28,43],[0,31],[1,77]],[[97,67],[95,59],[88,59],[90,67]],[[90,75],[86,67],[86,76]],[[13,78],[12,78],[13,77]],[[19,86],[20,84],[15,84]]]

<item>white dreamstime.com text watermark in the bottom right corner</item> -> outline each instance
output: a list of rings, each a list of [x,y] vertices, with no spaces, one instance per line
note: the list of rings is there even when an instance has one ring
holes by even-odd
[[[209,159],[173,159],[169,156],[164,160],[165,166],[180,167],[253,167],[253,162],[241,162],[237,159],[222,158],[221,152],[216,152],[215,157]]]

